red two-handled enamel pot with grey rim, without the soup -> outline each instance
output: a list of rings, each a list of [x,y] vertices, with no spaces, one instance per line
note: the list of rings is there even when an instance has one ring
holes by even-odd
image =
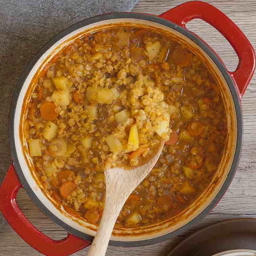
[[[239,58],[234,72],[227,70],[216,52],[202,39],[186,29],[186,23],[195,18],[214,26],[232,45]],[[196,198],[189,209],[167,221],[132,230],[114,230],[110,243],[114,246],[145,246],[164,241],[191,228],[205,217],[221,199],[238,166],[242,147],[243,124],[240,99],[250,82],[255,68],[255,53],[252,45],[241,30],[222,12],[212,5],[192,1],[181,4],[167,12],[153,16],[140,13],[114,13],[81,21],[54,37],[31,60],[17,85],[9,115],[9,142],[13,163],[0,188],[0,211],[13,229],[32,247],[45,255],[69,255],[88,246],[95,235],[95,226],[68,217],[64,211],[57,210],[50,199],[42,193],[31,175],[22,153],[19,136],[22,103],[26,101],[26,91],[36,71],[43,68],[42,63],[52,52],[57,52],[70,43],[82,31],[97,30],[127,25],[147,27],[173,36],[198,54],[221,84],[221,93],[228,114],[227,146],[222,161],[213,177],[213,182],[202,195]],[[49,58],[50,59],[50,58]],[[49,61],[48,59],[48,61]],[[16,204],[16,195],[24,188],[38,208],[51,220],[68,232],[68,236],[55,241],[37,230],[24,216]],[[122,233],[122,234],[121,234]]]

